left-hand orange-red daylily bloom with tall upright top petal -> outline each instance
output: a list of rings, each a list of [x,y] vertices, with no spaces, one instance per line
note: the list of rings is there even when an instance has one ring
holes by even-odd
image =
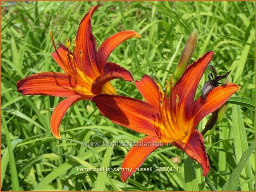
[[[69,40],[67,47],[60,45],[57,49],[50,32],[55,48],[51,56],[65,73],[36,73],[17,82],[17,90],[22,95],[67,97],[57,105],[51,117],[51,130],[58,139],[61,139],[60,122],[72,104],[102,93],[116,95],[110,80],[123,78],[125,81],[133,81],[129,71],[107,60],[110,53],[122,42],[141,36],[134,31],[121,31],[106,39],[97,51],[96,40],[91,32],[91,17],[99,6],[91,7],[81,20],[74,40],[74,52],[70,51]]]

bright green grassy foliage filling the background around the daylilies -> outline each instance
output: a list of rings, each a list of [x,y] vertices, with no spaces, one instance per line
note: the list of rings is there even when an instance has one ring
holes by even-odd
[[[98,46],[126,29],[142,36],[123,43],[109,58],[134,79],[145,73],[168,78],[194,28],[199,38],[191,62],[213,50],[211,64],[218,74],[232,70],[233,82],[241,86],[238,96],[248,100],[233,97],[235,104],[228,105],[222,123],[206,138],[211,165],[206,179],[199,165],[175,147],[157,149],[142,167],[178,167],[178,172],[137,172],[127,183],[119,172],[77,172],[77,167],[120,167],[129,150],[83,147],[82,142],[136,142],[144,135],[111,123],[92,102],[83,101],[69,109],[61,124],[62,140],[57,140],[50,132],[50,116],[62,98],[17,92],[17,81],[26,76],[61,71],[50,57],[49,30],[57,44],[75,38],[79,21],[98,3],[102,6],[92,19]],[[254,190],[254,2],[1,2],[1,9],[1,190]],[[206,70],[197,95],[210,72]],[[120,95],[141,98],[133,83],[112,83]]]

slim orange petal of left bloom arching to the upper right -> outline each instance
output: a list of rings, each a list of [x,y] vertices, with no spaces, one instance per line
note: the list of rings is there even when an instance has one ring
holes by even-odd
[[[98,58],[101,66],[104,66],[110,53],[125,40],[140,38],[141,35],[135,31],[121,31],[107,38],[98,49]]]

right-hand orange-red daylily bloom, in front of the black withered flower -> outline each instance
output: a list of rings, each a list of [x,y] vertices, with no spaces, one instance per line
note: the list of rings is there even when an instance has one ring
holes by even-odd
[[[164,93],[160,85],[148,75],[144,75],[141,81],[135,81],[145,102],[117,95],[93,97],[93,102],[103,116],[147,135],[124,158],[122,168],[132,168],[132,171],[121,172],[123,182],[143,164],[151,152],[170,142],[201,164],[203,176],[208,174],[210,165],[203,136],[195,128],[204,116],[218,109],[240,88],[233,83],[221,85],[208,92],[207,100],[200,96],[194,101],[199,81],[212,56],[212,51],[207,52],[190,64],[174,86],[170,76],[169,97],[166,93],[169,82],[166,81]]]

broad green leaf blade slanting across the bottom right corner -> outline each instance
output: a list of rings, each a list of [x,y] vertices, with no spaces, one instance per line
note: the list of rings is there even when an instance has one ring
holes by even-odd
[[[240,161],[237,164],[237,167],[231,173],[230,178],[227,180],[225,185],[223,185],[222,191],[232,191],[232,190],[234,190],[234,187],[236,186],[236,183],[237,183],[240,175],[242,174],[244,166],[249,162],[248,159],[250,158],[254,149],[255,149],[255,140],[250,145],[250,147],[244,152],[244,154],[242,155]],[[242,186],[240,186],[240,187],[242,187]],[[242,188],[241,188],[241,190],[242,190]]]

